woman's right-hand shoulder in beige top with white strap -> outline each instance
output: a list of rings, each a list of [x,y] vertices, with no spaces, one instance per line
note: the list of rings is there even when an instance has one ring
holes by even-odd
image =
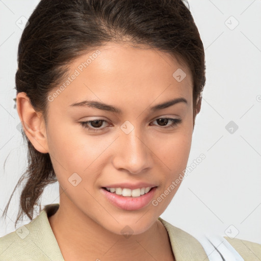
[[[188,232],[159,218],[169,234],[177,260],[261,260],[261,244],[221,236],[204,236],[197,240]],[[202,259],[203,258],[203,259]]]

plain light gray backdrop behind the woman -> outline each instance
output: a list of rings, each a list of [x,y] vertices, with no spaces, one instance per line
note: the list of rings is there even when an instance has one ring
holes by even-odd
[[[29,18],[38,2],[0,1],[0,215],[27,162],[13,101],[18,22]],[[237,238],[261,243],[261,1],[189,4],[205,48],[206,85],[188,166],[201,153],[206,158],[188,172],[161,217],[195,237],[238,233]],[[230,121],[239,127],[232,134],[225,128]],[[0,219],[0,237],[15,230],[19,193],[7,220]],[[42,205],[50,203],[59,203],[58,184],[44,191]]]

